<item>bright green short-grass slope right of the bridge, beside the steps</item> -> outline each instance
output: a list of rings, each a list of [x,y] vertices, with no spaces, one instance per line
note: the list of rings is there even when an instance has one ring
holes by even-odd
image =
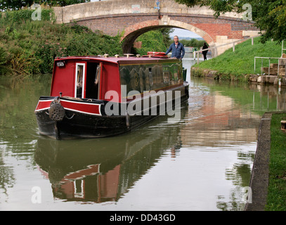
[[[261,44],[260,37],[254,38],[252,46],[251,39],[242,42],[233,48],[228,49],[220,56],[206,60],[193,68],[199,68],[192,75],[200,77],[202,70],[215,70],[220,79],[244,79],[245,75],[254,74],[254,57],[281,57],[281,44],[277,41],[268,41]],[[278,63],[278,60],[271,60],[271,63]],[[264,60],[264,67],[268,67],[268,60]],[[256,60],[256,74],[260,73],[261,60]],[[192,71],[193,72],[193,71]]]

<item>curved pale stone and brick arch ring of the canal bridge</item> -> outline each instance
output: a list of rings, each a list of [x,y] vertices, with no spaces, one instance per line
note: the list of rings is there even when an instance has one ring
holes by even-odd
[[[166,19],[166,18],[165,18]],[[195,27],[194,25],[190,25],[188,23],[183,23],[178,20],[164,20],[164,17],[161,20],[148,20],[144,23],[136,23],[124,29],[124,35],[122,36],[122,50],[124,53],[131,53],[131,48],[134,44],[134,41],[145,32],[150,30],[157,30],[164,27],[170,28],[181,28],[185,30],[189,30],[198,34],[200,37],[204,39],[204,41],[209,44],[209,46],[214,46],[214,40],[212,37],[207,34],[204,30]]]

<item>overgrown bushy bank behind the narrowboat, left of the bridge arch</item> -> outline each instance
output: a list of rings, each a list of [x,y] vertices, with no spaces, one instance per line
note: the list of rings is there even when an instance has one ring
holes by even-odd
[[[48,8],[42,9],[41,21],[33,21],[32,12],[0,13],[0,75],[51,73],[56,56],[122,54],[120,35],[110,37],[76,24],[55,24]]]

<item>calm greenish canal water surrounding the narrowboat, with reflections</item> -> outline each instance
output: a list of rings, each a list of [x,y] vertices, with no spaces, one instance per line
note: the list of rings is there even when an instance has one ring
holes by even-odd
[[[51,75],[0,77],[0,210],[243,210],[261,116],[285,89],[190,77],[181,119],[129,134],[56,141],[34,108]]]

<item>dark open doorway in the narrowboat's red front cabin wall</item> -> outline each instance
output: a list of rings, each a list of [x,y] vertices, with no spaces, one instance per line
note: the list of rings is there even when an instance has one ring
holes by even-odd
[[[87,63],[86,98],[98,99],[100,70],[100,63]]]

